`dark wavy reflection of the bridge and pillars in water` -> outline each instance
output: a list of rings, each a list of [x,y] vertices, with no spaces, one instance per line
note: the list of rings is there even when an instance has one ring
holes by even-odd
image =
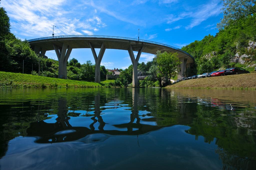
[[[58,100],[58,117],[55,123],[46,123],[44,121],[33,122],[30,128],[27,129],[28,136],[37,136],[38,143],[53,143],[53,142],[67,142],[67,141],[82,141],[82,142],[99,142],[105,140],[106,136],[111,135],[141,135],[151,131],[161,129],[162,126],[141,124],[141,118],[138,114],[138,89],[132,89],[133,107],[130,115],[130,122],[113,125],[115,129],[104,130],[105,122],[102,119],[100,110],[100,92],[95,95],[94,115],[91,117],[92,123],[90,128],[87,127],[73,127],[70,123],[70,117],[67,116],[68,108],[65,99]],[[134,123],[134,121],[136,122]],[[155,119],[148,119],[148,121],[155,121]],[[99,123],[98,130],[95,130],[94,124]],[[119,130],[126,128],[127,131]],[[91,134],[101,134],[99,135]],[[105,135],[103,135],[105,134]],[[86,136],[91,135],[92,139],[86,140]],[[95,138],[95,139],[93,139]]]

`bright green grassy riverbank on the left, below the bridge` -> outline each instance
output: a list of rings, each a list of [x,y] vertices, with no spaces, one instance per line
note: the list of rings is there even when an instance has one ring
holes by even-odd
[[[108,87],[110,81],[105,80],[101,83],[94,83],[88,81],[65,80],[43,76],[33,76],[22,73],[12,73],[0,71],[0,88],[97,88]]]

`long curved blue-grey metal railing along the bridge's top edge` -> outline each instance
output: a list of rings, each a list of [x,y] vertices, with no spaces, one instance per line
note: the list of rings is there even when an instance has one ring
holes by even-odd
[[[140,42],[147,42],[147,43],[151,43],[151,44],[157,44],[157,45],[161,45],[161,46],[165,46],[165,47],[170,47],[170,48],[176,49],[178,51],[184,52],[185,54],[192,57],[186,51],[183,51],[183,50],[181,50],[179,48],[176,48],[176,47],[173,47],[173,46],[169,46],[169,45],[162,44],[162,43],[159,43],[159,42],[154,42],[154,41],[148,41],[148,40],[143,40],[143,39],[135,39],[135,38],[127,38],[127,37],[116,37],[116,36],[105,36],[105,35],[62,35],[62,36],[55,36],[55,37],[35,38],[35,39],[27,40],[27,41],[32,42],[32,41],[38,41],[38,40],[58,39],[58,38],[110,38],[110,39],[124,39],[124,40],[140,41]]]

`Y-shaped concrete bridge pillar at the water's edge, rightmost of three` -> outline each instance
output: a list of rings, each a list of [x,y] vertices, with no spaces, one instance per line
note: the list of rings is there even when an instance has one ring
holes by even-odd
[[[140,59],[141,56],[141,51],[142,51],[143,46],[141,47],[141,49],[138,51],[138,54],[136,56],[136,59],[134,57],[134,53],[132,50],[132,46],[130,45],[130,47],[128,48],[128,52],[130,55],[130,58],[132,60],[132,66],[133,66],[133,72],[132,72],[132,87],[138,87],[138,61]]]

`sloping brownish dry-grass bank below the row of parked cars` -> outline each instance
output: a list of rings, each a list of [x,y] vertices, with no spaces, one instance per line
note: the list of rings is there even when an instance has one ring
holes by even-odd
[[[256,89],[256,73],[184,80],[166,88]]]

